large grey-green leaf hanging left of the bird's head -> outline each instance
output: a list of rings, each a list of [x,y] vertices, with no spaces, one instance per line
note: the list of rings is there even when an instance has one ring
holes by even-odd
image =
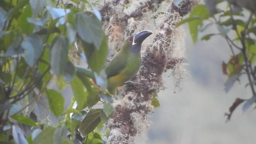
[[[85,42],[92,43],[97,50],[100,49],[104,31],[102,24],[92,12],[83,12],[75,15],[76,32]]]

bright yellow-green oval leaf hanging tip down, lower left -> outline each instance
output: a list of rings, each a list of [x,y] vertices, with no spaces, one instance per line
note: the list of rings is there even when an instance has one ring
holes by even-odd
[[[46,90],[46,94],[48,97],[50,110],[58,118],[64,112],[64,98],[62,94],[52,89]]]

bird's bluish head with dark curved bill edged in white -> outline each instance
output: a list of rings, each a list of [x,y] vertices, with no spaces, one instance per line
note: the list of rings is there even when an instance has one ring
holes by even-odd
[[[153,34],[151,30],[143,30],[134,36],[130,36],[127,41],[130,44],[132,51],[136,53],[140,52],[142,42],[151,34]]]

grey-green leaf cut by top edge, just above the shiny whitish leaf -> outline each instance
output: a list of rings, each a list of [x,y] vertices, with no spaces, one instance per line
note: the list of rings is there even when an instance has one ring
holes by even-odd
[[[33,15],[39,14],[46,6],[46,0],[29,0]]]

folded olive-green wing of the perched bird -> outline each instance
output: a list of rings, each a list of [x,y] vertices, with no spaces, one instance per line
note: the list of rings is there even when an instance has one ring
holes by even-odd
[[[118,54],[110,61],[110,63],[105,68],[107,78],[120,74],[120,72],[126,66],[127,60],[125,59],[126,59],[126,56],[123,56],[122,54]]]

